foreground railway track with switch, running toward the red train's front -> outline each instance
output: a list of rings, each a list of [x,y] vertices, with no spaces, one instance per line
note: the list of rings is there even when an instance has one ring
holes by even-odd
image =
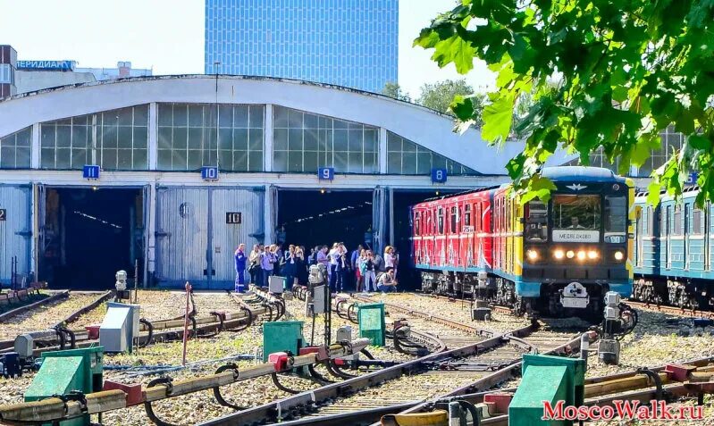
[[[354,299],[374,302],[368,297]],[[580,344],[579,333],[539,330],[537,323],[500,334],[405,305],[384,305],[391,320],[406,320],[414,329],[428,330],[441,339],[444,349],[201,424],[370,424],[385,413],[398,413],[454,391],[470,391],[475,384],[491,388],[519,372],[525,353],[571,353]]]

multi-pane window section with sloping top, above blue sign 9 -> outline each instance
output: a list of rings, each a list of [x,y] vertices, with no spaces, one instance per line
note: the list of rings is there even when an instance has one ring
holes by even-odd
[[[379,172],[379,129],[273,106],[273,170]]]

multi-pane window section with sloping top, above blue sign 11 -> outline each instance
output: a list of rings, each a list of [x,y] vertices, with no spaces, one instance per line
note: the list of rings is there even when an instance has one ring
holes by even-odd
[[[148,105],[40,124],[40,168],[148,169]]]

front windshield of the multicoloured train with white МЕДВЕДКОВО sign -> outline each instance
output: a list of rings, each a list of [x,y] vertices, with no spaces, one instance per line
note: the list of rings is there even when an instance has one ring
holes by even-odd
[[[600,241],[601,196],[553,196],[553,241]]]

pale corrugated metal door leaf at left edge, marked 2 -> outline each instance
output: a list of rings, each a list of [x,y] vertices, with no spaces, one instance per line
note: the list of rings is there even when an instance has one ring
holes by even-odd
[[[11,259],[17,256],[19,273],[29,273],[31,191],[29,186],[0,185],[0,209],[5,211],[0,221],[0,282],[11,279]]]

